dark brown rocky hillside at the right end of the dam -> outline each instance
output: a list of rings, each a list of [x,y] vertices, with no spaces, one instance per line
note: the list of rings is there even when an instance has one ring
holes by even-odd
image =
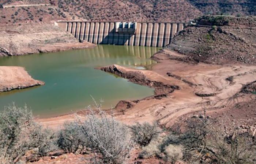
[[[256,64],[256,17],[203,16],[166,47],[185,60],[214,64]]]

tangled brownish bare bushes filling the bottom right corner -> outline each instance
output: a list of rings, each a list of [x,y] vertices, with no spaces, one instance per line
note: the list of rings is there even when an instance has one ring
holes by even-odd
[[[214,127],[214,120],[191,118],[185,132],[170,133],[160,145],[166,154],[169,145],[183,146],[183,160],[189,163],[250,164],[256,160],[254,137],[234,127],[231,132]]]

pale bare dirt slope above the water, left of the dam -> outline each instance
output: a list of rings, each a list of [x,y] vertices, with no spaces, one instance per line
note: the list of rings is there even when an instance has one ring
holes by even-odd
[[[0,56],[54,52],[95,45],[79,43],[71,34],[54,24],[22,24],[0,27]]]

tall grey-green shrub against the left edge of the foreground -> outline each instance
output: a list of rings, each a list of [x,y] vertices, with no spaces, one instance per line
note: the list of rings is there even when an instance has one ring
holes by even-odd
[[[0,159],[4,163],[16,163],[29,150],[32,113],[25,106],[14,104],[0,114]]]

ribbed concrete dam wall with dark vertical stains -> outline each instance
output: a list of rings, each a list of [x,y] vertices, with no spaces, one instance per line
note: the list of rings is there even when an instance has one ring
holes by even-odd
[[[94,44],[164,47],[186,23],[57,21],[78,40]]]

